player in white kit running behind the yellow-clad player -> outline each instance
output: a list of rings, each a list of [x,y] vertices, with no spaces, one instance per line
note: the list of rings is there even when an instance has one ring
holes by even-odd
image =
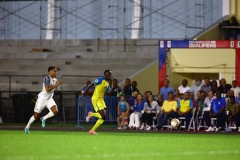
[[[27,126],[24,131],[26,134],[29,134],[30,125],[40,116],[41,111],[47,107],[49,109],[49,113],[43,116],[41,119],[42,127],[45,127],[46,119],[56,115],[58,113],[58,108],[53,100],[54,90],[57,86],[62,84],[62,81],[58,81],[56,79],[57,68],[54,66],[50,66],[48,68],[48,75],[43,79],[43,89],[38,94],[38,99],[34,108],[34,115],[29,119]]]

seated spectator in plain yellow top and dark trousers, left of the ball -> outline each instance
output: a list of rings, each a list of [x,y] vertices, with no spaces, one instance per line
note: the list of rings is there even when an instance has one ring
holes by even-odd
[[[168,99],[163,102],[162,112],[157,119],[157,129],[162,129],[169,118],[176,118],[177,116],[177,101],[174,99],[173,92],[169,92]]]

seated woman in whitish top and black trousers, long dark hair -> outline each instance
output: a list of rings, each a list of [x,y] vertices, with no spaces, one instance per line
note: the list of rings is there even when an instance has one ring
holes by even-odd
[[[145,127],[145,130],[151,130],[151,126],[153,125],[153,120],[157,119],[160,107],[158,103],[155,101],[152,94],[148,95],[147,102],[144,103],[144,113],[142,114],[142,125],[141,130]],[[145,124],[147,124],[145,126]]]

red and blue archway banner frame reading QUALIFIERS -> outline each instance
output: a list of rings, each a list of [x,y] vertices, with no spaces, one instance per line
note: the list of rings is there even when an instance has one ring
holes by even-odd
[[[233,48],[236,50],[236,80],[240,85],[240,41],[237,40],[159,40],[159,88],[166,79],[166,51],[170,48]]]

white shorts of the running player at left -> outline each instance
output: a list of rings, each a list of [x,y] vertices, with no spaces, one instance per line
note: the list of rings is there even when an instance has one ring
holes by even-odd
[[[50,110],[52,108],[52,106],[57,107],[53,98],[46,99],[44,97],[38,97],[37,102],[34,107],[34,112],[41,113],[45,107],[47,107]]]

